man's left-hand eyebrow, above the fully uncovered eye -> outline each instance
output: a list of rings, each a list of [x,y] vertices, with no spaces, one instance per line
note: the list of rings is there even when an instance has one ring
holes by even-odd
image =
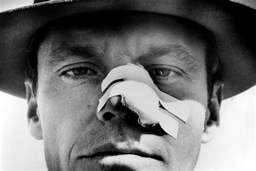
[[[98,59],[103,58],[104,54],[93,45],[74,46],[62,44],[49,53],[49,58],[46,60],[45,68],[49,71],[63,61],[72,59],[72,57],[80,59]]]

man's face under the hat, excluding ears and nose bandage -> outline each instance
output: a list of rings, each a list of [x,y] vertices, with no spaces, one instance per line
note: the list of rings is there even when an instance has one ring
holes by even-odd
[[[109,25],[84,19],[56,28],[39,48],[37,114],[49,169],[170,170],[196,165],[207,108],[205,42],[177,18],[124,18]],[[179,124],[177,139],[140,126],[137,118],[120,117],[124,111],[116,107],[117,97],[105,106],[116,117],[97,118],[102,80],[127,63],[142,65],[161,91],[191,105],[186,123],[171,116]]]

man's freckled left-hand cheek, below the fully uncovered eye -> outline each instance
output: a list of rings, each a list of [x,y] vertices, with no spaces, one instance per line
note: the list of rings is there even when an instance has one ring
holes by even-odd
[[[49,84],[48,84],[49,85]],[[62,87],[62,86],[58,86]],[[68,163],[69,153],[79,135],[96,119],[100,87],[80,85],[38,89],[45,155],[51,161]],[[87,127],[86,127],[87,126]],[[47,160],[47,159],[46,159]]]

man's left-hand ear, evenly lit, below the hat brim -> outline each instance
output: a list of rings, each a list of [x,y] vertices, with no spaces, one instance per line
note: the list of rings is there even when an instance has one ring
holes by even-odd
[[[32,84],[25,82],[26,99],[28,100],[28,126],[30,134],[37,140],[43,139],[40,115],[37,109],[37,101],[32,91]]]

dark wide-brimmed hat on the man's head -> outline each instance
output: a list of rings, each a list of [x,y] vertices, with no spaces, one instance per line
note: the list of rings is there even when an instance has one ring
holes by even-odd
[[[0,91],[25,98],[25,61],[35,32],[75,13],[132,10],[192,20],[214,37],[221,60],[224,99],[256,83],[255,6],[217,0],[49,1],[0,13]],[[255,4],[254,4],[255,5]]]

